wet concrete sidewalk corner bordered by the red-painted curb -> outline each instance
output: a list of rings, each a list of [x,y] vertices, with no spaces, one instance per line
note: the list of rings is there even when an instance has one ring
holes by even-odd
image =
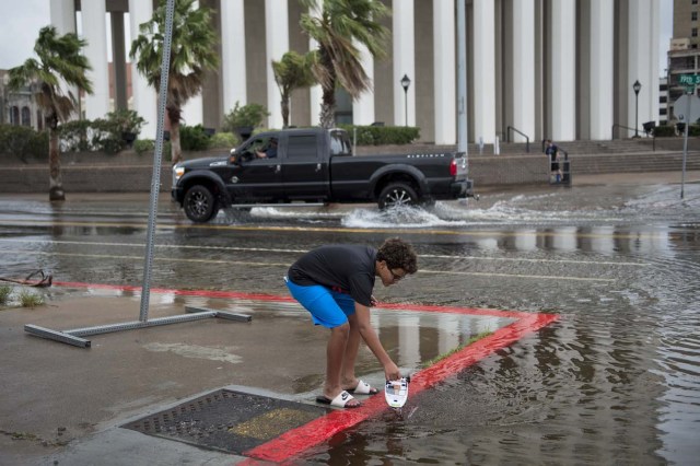
[[[184,315],[185,307],[192,302],[200,303],[198,307],[206,303],[207,308],[245,313],[253,319],[207,318],[106,333],[85,337],[92,346],[80,348],[30,335],[24,326],[66,330],[137,322],[139,293],[118,287],[61,288],[59,283],[55,288],[46,305],[0,311],[2,465],[230,465],[246,458],[208,450],[202,446],[207,443],[197,438],[189,438],[198,445],[195,446],[168,440],[173,435],[164,434],[166,439],[163,439],[124,427],[142,424],[144,417],[161,419],[163,411],[176,417],[183,404],[196,406],[196,398],[207,398],[222,388],[279,400],[275,403],[293,401],[291,409],[237,416],[238,426],[258,423],[257,436],[243,433],[238,439],[243,435],[244,443],[249,440],[255,443],[255,439],[266,443],[306,423],[305,418],[290,421],[289,416],[298,416],[290,411],[301,412],[308,409],[303,408],[306,405],[315,410],[325,408],[317,405],[315,398],[323,386],[327,334],[314,328],[307,313],[287,298],[232,299],[214,292],[159,291],[151,293],[149,321]],[[406,312],[419,318],[415,325],[430,327],[435,338],[446,331],[440,324],[441,313],[410,307],[380,310],[382,314],[375,325],[378,325],[377,331],[384,325],[389,327],[389,339],[385,341],[389,352],[398,349],[396,328]],[[468,310],[465,312],[459,318],[471,321],[465,328],[475,331],[480,327],[495,330],[520,318],[499,311],[474,315]],[[384,385],[384,374],[377,371],[376,360],[364,346],[357,368],[358,376],[371,385],[378,388]],[[360,397],[368,404],[365,415],[376,408],[388,409],[383,397]],[[219,405],[212,408],[214,413],[219,408]],[[275,418],[282,411],[281,419]],[[192,416],[205,416],[203,411],[197,412]],[[232,415],[225,419],[233,421],[238,411],[226,412]],[[353,413],[350,418],[359,419],[359,416],[364,415]],[[303,422],[294,424],[295,420]],[[292,426],[285,429],[284,423]],[[220,433],[226,444],[235,444],[234,428],[229,433],[224,428]],[[322,442],[323,435],[316,433],[317,441]],[[183,435],[179,439],[188,441]]]

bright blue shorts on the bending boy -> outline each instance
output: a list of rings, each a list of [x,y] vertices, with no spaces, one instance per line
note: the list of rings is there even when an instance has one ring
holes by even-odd
[[[338,293],[322,284],[301,286],[284,277],[287,288],[301,303],[316,325],[326,328],[339,327],[354,314],[354,300],[345,293]]]

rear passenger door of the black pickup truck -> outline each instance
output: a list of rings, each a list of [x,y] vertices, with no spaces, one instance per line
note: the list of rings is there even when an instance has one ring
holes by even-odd
[[[318,133],[290,133],[282,166],[289,200],[323,201],[330,194],[328,155]]]

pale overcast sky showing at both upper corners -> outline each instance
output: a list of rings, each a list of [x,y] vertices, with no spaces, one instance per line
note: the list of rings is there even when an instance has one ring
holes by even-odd
[[[658,75],[665,75],[666,51],[673,30],[673,0],[661,2]],[[34,42],[50,23],[49,0],[0,0],[0,69],[22,65],[34,55]]]

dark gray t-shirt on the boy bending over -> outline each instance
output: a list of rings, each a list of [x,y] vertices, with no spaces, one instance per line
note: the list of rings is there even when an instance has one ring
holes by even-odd
[[[371,306],[376,249],[357,245],[328,245],[310,251],[289,268],[289,279],[303,287],[323,284]]]

